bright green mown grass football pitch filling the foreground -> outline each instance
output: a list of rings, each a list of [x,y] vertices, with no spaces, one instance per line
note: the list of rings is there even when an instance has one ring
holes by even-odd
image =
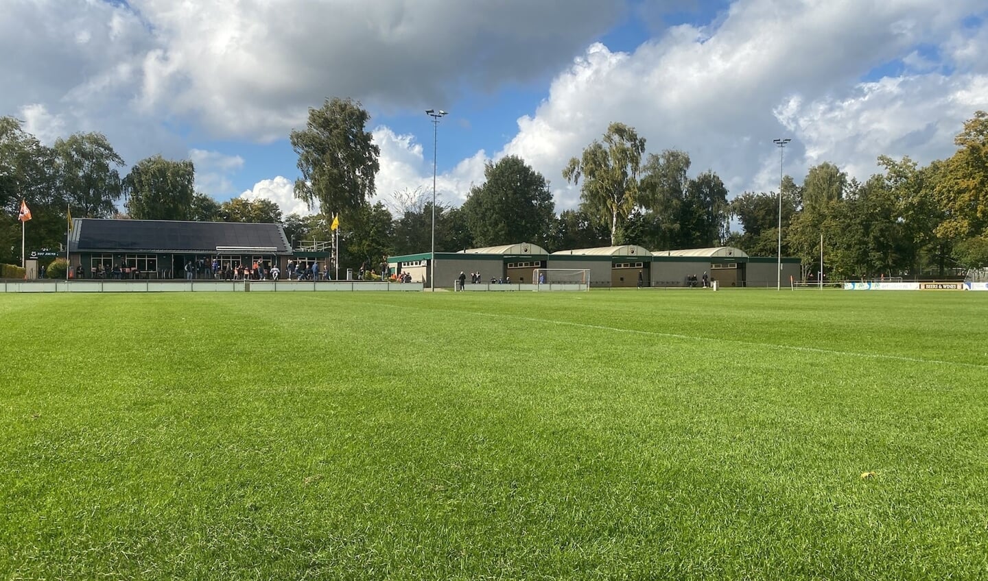
[[[0,579],[988,579],[988,293],[0,316]]]

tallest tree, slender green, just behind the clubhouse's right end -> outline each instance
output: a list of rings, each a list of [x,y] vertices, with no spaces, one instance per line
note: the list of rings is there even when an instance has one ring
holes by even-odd
[[[357,210],[374,194],[380,149],[366,130],[370,115],[359,102],[334,98],[309,109],[304,130],[291,131],[302,177],[295,197],[320,212],[335,215]]]

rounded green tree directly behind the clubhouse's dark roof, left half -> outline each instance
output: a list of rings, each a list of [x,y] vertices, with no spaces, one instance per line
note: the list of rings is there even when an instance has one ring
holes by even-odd
[[[191,160],[143,159],[124,178],[127,211],[134,220],[189,220],[195,182]]]

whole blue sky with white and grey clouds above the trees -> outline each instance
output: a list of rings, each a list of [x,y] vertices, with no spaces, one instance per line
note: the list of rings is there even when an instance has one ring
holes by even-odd
[[[378,197],[458,205],[484,164],[524,158],[557,210],[566,161],[612,121],[648,151],[688,152],[731,194],[830,161],[865,179],[879,154],[947,157],[988,109],[988,11],[956,0],[14,0],[0,14],[0,114],[44,142],[101,131],[127,164],[191,158],[217,200],[283,210],[305,111],[352,97],[381,147]],[[124,171],[128,168],[124,168]]]

